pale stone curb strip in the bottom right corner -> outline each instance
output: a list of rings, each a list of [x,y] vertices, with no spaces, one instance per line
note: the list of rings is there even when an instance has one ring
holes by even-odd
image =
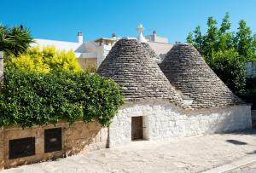
[[[248,166],[250,164],[256,164],[256,154],[253,156],[246,157],[244,159],[240,159],[230,164],[224,164],[217,168],[213,168],[212,170],[207,170],[202,173],[230,173],[232,170],[236,170],[241,167]]]

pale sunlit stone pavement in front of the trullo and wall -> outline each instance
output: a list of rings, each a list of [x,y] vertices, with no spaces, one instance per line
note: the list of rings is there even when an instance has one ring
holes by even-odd
[[[188,137],[172,141],[134,141],[125,147],[81,153],[66,159],[24,165],[1,173],[49,172],[201,172],[256,154],[256,130]],[[241,173],[255,172],[255,165]]]

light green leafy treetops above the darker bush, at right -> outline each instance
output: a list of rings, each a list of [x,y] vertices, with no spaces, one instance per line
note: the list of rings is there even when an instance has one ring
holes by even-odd
[[[239,55],[243,56],[242,61],[256,59],[256,35],[252,35],[245,20],[240,20],[236,32],[230,32],[230,14],[228,13],[224,15],[219,28],[217,24],[216,20],[209,17],[205,34],[201,35],[200,26],[197,26],[194,34],[189,32],[187,37],[187,42],[192,43],[200,51],[207,63],[212,61],[215,52],[227,49],[236,49]]]

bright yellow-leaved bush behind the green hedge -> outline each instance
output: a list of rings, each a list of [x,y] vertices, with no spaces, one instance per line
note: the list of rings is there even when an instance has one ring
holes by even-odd
[[[72,51],[58,51],[53,46],[28,49],[25,54],[11,56],[6,67],[32,72],[80,72],[81,67]]]

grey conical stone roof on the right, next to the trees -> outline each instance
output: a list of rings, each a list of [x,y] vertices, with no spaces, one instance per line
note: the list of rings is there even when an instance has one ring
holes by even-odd
[[[193,108],[227,107],[244,103],[207,66],[191,44],[175,44],[160,68],[172,86],[193,100]]]

